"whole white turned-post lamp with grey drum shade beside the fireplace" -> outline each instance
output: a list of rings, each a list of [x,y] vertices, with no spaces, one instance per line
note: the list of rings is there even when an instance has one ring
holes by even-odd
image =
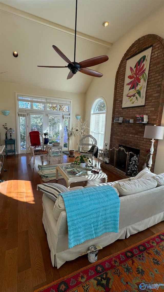
[[[153,151],[154,151],[154,139],[163,139],[163,134],[164,134],[164,127],[162,126],[145,126],[145,131],[144,131],[144,138],[152,138],[151,140],[151,148],[150,148],[150,159],[148,162],[148,168],[150,170],[152,166],[152,156],[153,156]]]

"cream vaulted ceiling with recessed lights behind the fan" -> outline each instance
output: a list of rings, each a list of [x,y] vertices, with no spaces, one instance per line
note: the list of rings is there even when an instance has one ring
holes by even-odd
[[[37,67],[67,65],[52,45],[74,60],[75,4],[75,0],[0,0],[0,72],[7,71],[0,80],[87,91],[97,77],[78,72],[67,80],[68,68]],[[107,54],[112,43],[163,4],[164,0],[78,0],[76,62]],[[103,21],[109,26],[103,27]],[[13,51],[18,51],[18,58]]]

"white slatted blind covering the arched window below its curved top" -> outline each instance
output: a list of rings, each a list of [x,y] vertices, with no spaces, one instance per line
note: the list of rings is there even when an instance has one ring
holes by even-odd
[[[105,131],[105,114],[93,113],[91,114],[90,134],[97,140],[99,149],[104,147],[104,131]]]

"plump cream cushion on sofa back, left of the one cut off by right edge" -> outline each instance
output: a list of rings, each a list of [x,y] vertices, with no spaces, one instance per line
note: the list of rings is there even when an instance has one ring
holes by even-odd
[[[116,183],[115,187],[121,196],[127,196],[153,189],[157,186],[156,180],[152,178],[140,178],[138,180],[132,180],[127,182]]]

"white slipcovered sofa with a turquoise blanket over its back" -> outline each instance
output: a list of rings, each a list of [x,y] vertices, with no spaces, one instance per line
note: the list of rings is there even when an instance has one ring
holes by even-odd
[[[48,197],[47,185],[41,184],[38,190],[43,192],[43,225],[47,233],[48,245],[51,253],[52,265],[59,268],[66,261],[78,258],[79,254],[88,250],[90,245],[111,244],[117,239],[128,238],[131,234],[145,230],[164,220],[164,173],[155,175],[148,168],[141,171],[135,178],[126,178],[112,183],[120,198],[119,231],[118,233],[104,233],[100,237],[87,240],[73,248],[68,248],[67,214],[62,196],[52,200],[52,190]],[[44,185],[46,190],[44,190]],[[98,185],[90,185],[98,186]],[[67,191],[67,188],[63,187]],[[88,186],[86,186],[88,187]],[[75,187],[69,190],[74,190]],[[61,191],[59,191],[60,193]],[[51,198],[50,198],[51,197]]]

